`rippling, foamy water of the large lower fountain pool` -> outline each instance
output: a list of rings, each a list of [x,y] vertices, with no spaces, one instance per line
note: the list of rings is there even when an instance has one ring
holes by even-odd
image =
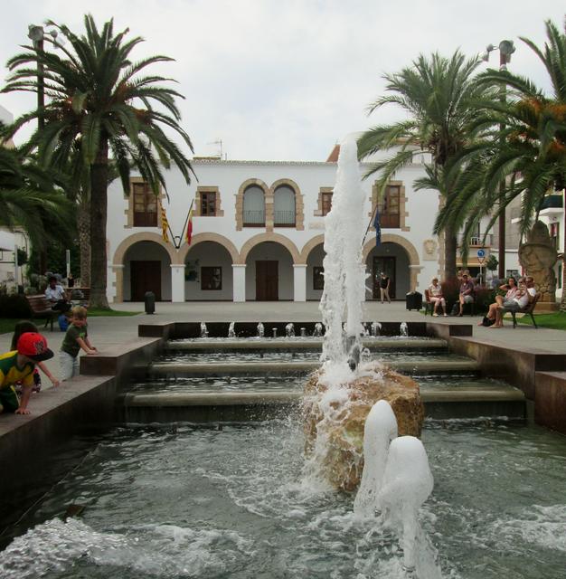
[[[435,479],[423,576],[563,576],[561,436],[448,421],[426,422],[422,440]],[[354,518],[353,495],[310,481],[303,443],[297,417],[118,428],[21,520],[0,576],[404,578],[397,537]],[[70,504],[84,511],[63,523]]]

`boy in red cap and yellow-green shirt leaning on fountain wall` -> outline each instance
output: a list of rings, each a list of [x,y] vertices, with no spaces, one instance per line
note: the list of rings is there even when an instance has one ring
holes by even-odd
[[[33,369],[36,362],[53,357],[47,340],[37,332],[25,332],[18,339],[17,350],[0,356],[0,413],[29,414],[27,403],[33,388]],[[22,399],[14,384],[22,383]]]

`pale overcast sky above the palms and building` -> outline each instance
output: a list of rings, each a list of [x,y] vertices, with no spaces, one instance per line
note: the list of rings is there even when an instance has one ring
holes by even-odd
[[[560,0],[0,0],[0,62],[28,43],[28,24],[50,19],[84,30],[83,15],[142,36],[136,59],[175,59],[154,69],[184,95],[182,125],[194,155],[228,159],[324,161],[348,133],[401,118],[393,106],[367,116],[383,94],[385,72],[420,54],[473,56],[489,43],[513,40],[509,70],[548,87],[534,53],[544,21],[562,26]],[[491,62],[498,63],[497,52]],[[15,116],[33,95],[0,94]],[[15,140],[25,137],[25,132]],[[190,151],[185,151],[191,155]]]

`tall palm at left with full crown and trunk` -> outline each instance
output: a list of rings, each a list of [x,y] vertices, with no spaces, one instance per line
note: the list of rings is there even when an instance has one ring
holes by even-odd
[[[61,164],[71,156],[73,147],[80,147],[84,175],[90,179],[90,303],[108,308],[106,224],[110,157],[118,166],[126,193],[130,164],[137,167],[156,195],[160,185],[165,188],[163,168],[172,163],[189,183],[190,162],[165,134],[165,130],[172,131],[193,150],[189,136],[179,125],[181,115],[175,105],[175,97],[183,97],[157,84],[170,79],[146,73],[150,65],[172,59],[159,55],[132,62],[130,53],[142,39],[127,39],[128,30],[114,33],[112,20],[99,30],[88,14],[84,18],[86,33],[80,36],[65,25],[47,24],[68,42],[58,51],[62,52],[61,57],[55,52],[26,47],[28,52],[8,62],[13,73],[5,91],[37,91],[37,67],[41,66],[48,98],[44,109],[16,119],[12,132],[33,119],[43,118],[45,127],[33,134],[30,145],[41,151],[48,165]]]

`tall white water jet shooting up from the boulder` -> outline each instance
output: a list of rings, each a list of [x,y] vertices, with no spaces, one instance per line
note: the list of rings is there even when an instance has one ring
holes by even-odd
[[[356,353],[359,361],[365,291],[363,202],[357,144],[348,138],[340,146],[332,208],[325,218],[325,289],[319,309],[326,328],[321,359],[327,366],[344,365],[348,355]],[[347,346],[342,337],[344,315]],[[331,371],[331,367],[325,369]]]

